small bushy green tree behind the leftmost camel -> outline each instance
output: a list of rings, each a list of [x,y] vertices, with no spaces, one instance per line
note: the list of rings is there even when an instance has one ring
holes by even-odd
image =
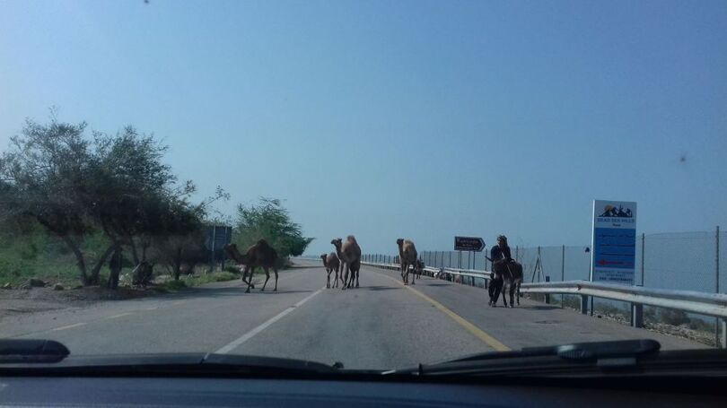
[[[266,239],[281,257],[302,255],[313,240],[302,236],[301,226],[291,221],[281,201],[273,198],[261,197],[258,204],[250,206],[239,204],[234,230],[238,247]]]

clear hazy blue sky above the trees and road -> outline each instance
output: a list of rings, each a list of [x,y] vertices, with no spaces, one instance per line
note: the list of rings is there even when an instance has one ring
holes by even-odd
[[[0,0],[0,149],[26,117],[133,125],[314,237],[448,250],[727,227],[724,1]]]

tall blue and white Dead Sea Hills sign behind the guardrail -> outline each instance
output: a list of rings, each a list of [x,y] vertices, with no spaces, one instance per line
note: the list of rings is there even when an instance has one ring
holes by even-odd
[[[593,201],[591,281],[634,284],[636,203]]]

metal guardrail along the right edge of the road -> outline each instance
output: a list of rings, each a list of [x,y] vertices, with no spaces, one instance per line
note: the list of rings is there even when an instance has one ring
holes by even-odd
[[[377,264],[362,262],[384,269],[399,270],[398,264]],[[434,276],[444,273],[451,276],[469,276],[485,280],[490,279],[489,271],[456,268],[425,268],[426,274]],[[581,313],[588,313],[589,298],[611,299],[631,304],[631,326],[644,327],[644,305],[657,308],[671,308],[688,313],[717,317],[720,319],[720,347],[727,348],[727,295],[721,293],[703,293],[699,291],[670,291],[651,289],[640,286],[626,286],[613,283],[588,281],[538,282],[522,283],[521,293],[542,293],[549,302],[550,295],[581,296]]]

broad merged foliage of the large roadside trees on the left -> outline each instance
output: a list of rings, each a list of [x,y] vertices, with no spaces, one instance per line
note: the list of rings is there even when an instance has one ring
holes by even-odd
[[[0,222],[42,225],[73,252],[84,285],[100,283],[101,267],[116,245],[130,249],[125,252],[135,265],[155,252],[179,275],[182,258],[201,246],[207,205],[226,193],[218,187],[206,202],[191,204],[194,184],[176,184],[162,162],[167,148],[153,136],[128,126],[118,135],[87,137],[85,128],[58,122],[55,115],[48,125],[26,122],[0,156]],[[84,240],[100,234],[105,243],[91,253]],[[165,250],[175,255],[160,256]],[[118,282],[113,278],[110,286]]]

